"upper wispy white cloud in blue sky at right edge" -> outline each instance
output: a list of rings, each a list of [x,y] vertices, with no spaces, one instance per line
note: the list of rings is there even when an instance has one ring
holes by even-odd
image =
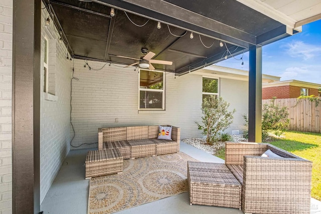
[[[294,58],[312,59],[321,55],[321,46],[306,44],[302,41],[293,41],[285,45],[288,55]]]

